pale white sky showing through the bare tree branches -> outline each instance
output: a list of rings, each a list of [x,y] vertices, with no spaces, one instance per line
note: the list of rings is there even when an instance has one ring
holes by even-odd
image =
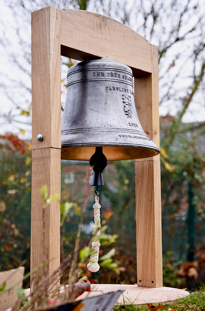
[[[145,1],[149,2],[149,1]],[[183,1],[181,1],[183,3]],[[203,1],[200,2],[203,5]],[[147,4],[148,5],[148,4]],[[95,7],[91,5],[88,7],[88,11],[95,12]],[[106,8],[104,8],[106,9]],[[129,11],[132,9],[132,1],[128,1],[126,9]],[[200,10],[199,10],[200,11]],[[28,111],[28,107],[31,104],[31,55],[30,55],[30,41],[31,41],[31,28],[29,23],[24,21],[24,16],[17,12],[16,20],[13,18],[12,12],[6,6],[3,0],[0,0],[0,12],[1,22],[0,30],[1,37],[6,39],[7,50],[0,44],[0,55],[2,62],[0,63],[0,113],[15,116],[17,122],[9,122],[7,119],[0,117],[0,133],[13,132],[19,134],[21,138],[31,138],[31,118],[26,115],[20,115],[22,109]],[[200,12],[199,12],[200,13]],[[198,14],[199,14],[198,13]],[[113,13],[114,14],[114,13]],[[136,13],[137,14],[137,13]],[[137,19],[134,19],[135,15],[131,16],[131,28],[137,30],[141,35],[146,36],[146,29],[141,31],[142,16],[137,15]],[[149,18],[151,25],[151,18],[148,16],[147,29],[149,28]],[[191,25],[194,25],[198,16],[187,15],[184,18],[184,28],[181,27],[181,33],[185,33],[186,29]],[[119,20],[119,17],[118,17]],[[162,15],[161,23],[156,26],[156,36],[159,36],[159,40],[156,36],[153,36],[149,42],[152,44],[160,44],[160,40],[163,40],[168,35],[169,27],[172,27],[174,23],[174,17],[164,18]],[[16,35],[15,26],[19,27],[19,33],[23,38],[19,42]],[[22,27],[23,26],[23,27]],[[200,31],[200,30],[199,30]],[[202,30],[201,30],[202,31]],[[203,31],[202,31],[203,32]],[[196,36],[196,33],[194,34]],[[147,35],[148,37],[148,35]],[[148,39],[148,38],[147,38]],[[204,40],[204,37],[202,38]],[[204,41],[203,41],[204,42]],[[1,43],[1,41],[0,41]],[[186,46],[185,46],[186,44]],[[190,51],[194,49],[194,44],[198,44],[197,38],[194,38],[192,34],[188,37],[186,42],[179,42],[174,45],[174,48],[169,49],[166,54],[166,58],[160,63],[159,67],[159,92],[160,92],[160,115],[166,114],[176,115],[180,108],[181,100],[191,92],[191,86],[193,77],[191,76],[193,68],[193,59],[190,57]],[[179,54],[183,52],[183,56],[179,57]],[[10,55],[8,55],[10,53]],[[201,56],[204,59],[204,53]],[[172,66],[174,61],[174,66]],[[23,70],[19,69],[17,62],[22,65]],[[200,59],[195,62],[195,72],[199,72]],[[198,67],[198,69],[197,69]],[[67,66],[62,65],[62,80],[66,78]],[[66,80],[62,82],[62,103],[65,100],[65,87]],[[22,87],[23,85],[23,87]],[[170,88],[170,96],[166,97],[166,92]],[[205,121],[205,100],[204,100],[204,84],[201,86],[196,95],[194,95],[193,103],[188,108],[182,121],[188,122],[202,122]],[[188,93],[189,92],[189,93]],[[20,107],[21,110],[18,108]],[[26,124],[28,123],[29,124]],[[22,131],[23,130],[23,131]],[[23,134],[23,132],[25,133]],[[20,133],[22,132],[22,133]]]

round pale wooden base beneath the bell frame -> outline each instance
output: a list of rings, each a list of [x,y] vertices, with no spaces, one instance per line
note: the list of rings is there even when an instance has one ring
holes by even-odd
[[[64,290],[64,289],[61,289]],[[60,290],[60,292],[61,292]],[[117,284],[91,284],[91,291],[84,292],[76,300],[107,294],[112,291],[124,290],[123,294],[117,299],[117,303],[142,305],[152,303],[154,305],[160,303],[173,303],[179,298],[189,295],[189,292],[171,287],[138,287],[137,285],[117,285]],[[29,297],[30,289],[24,290],[26,297]]]

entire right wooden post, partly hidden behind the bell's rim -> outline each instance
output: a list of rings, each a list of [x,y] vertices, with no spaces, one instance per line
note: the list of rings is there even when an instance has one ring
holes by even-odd
[[[158,49],[150,45],[150,51],[152,73],[135,78],[135,105],[143,130],[160,147]],[[161,287],[160,155],[136,160],[135,169],[137,284]]]

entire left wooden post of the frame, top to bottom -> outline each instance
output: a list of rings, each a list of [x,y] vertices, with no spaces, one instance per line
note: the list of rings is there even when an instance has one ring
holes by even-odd
[[[31,272],[42,263],[46,252],[48,268],[60,266],[60,9],[45,7],[32,12],[32,188],[31,188]],[[43,141],[37,141],[37,135]],[[59,194],[45,209],[41,187],[48,196]],[[43,241],[43,235],[46,241]],[[41,270],[35,282],[41,280]],[[31,276],[32,281],[32,276]],[[60,283],[59,283],[60,284]]]

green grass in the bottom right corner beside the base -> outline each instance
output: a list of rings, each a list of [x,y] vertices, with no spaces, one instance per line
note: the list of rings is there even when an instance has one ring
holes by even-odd
[[[155,304],[157,307],[158,304]],[[173,304],[163,304],[162,311],[168,311],[168,309],[175,309],[177,311],[201,311],[205,309],[205,288],[204,286],[195,290],[194,292],[190,292],[190,295],[176,300]],[[132,302],[130,304],[118,304],[115,306],[114,311],[147,311],[154,310],[154,308],[150,308],[144,304],[142,306],[136,306]]]

